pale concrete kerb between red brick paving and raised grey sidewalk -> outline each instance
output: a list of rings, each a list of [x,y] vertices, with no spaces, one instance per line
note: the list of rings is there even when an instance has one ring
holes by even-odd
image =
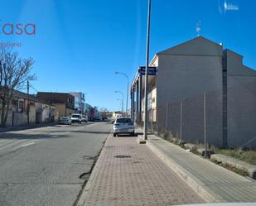
[[[157,137],[159,138],[159,137]],[[168,142],[171,144],[171,142]],[[160,151],[156,146],[154,146],[150,141],[147,141],[146,144],[161,160],[163,160],[170,168],[173,170],[176,175],[179,175],[182,180],[186,181],[191,189],[196,191],[197,194],[200,195],[202,199],[205,199],[207,203],[220,203],[225,202],[225,199],[221,198],[219,195],[215,194],[212,190],[206,187],[199,179],[197,179],[194,175],[191,175],[190,172],[183,169],[180,165],[178,165],[174,160],[171,160],[170,157],[165,155],[162,151]],[[191,154],[195,156],[194,154]]]

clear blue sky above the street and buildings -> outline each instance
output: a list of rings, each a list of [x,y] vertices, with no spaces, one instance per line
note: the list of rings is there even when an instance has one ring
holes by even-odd
[[[6,36],[21,42],[22,57],[36,60],[38,91],[86,93],[99,108],[118,110],[139,65],[145,64],[147,0],[0,0],[0,25],[36,24],[35,36]],[[200,35],[244,55],[256,69],[254,0],[152,0],[150,55]],[[32,90],[33,91],[33,90]],[[36,92],[36,91],[33,91]]]

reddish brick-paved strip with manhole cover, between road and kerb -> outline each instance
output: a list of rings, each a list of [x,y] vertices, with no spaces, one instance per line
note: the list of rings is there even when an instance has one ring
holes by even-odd
[[[204,202],[136,139],[107,139],[78,205],[163,206]]]

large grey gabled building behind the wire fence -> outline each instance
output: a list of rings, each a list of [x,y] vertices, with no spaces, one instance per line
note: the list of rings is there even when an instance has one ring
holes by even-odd
[[[150,129],[203,142],[206,128],[210,145],[256,147],[256,71],[243,56],[199,36],[157,53],[150,65],[158,70],[148,78]],[[143,75],[131,91],[131,115],[142,124]]]

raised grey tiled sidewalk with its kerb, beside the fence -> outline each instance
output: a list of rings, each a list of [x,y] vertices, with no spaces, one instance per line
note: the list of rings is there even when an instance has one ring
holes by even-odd
[[[256,181],[149,135],[147,146],[207,202],[256,202]]]

